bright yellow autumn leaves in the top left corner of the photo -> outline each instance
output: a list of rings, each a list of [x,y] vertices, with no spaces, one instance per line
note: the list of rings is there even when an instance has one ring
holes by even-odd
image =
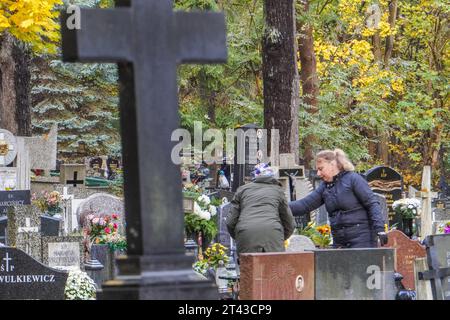
[[[57,5],[62,0],[2,0],[0,34],[9,32],[36,52],[55,53],[60,38]]]

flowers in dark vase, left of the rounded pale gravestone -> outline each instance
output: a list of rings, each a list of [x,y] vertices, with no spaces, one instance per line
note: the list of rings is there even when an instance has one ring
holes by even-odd
[[[61,228],[63,209],[62,198],[58,191],[43,191],[41,196],[33,193],[32,203],[36,205],[43,215],[41,216],[41,234],[43,236],[58,236]]]

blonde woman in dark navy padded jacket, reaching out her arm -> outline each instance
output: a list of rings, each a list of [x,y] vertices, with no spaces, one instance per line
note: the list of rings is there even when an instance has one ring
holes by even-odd
[[[354,172],[341,149],[324,150],[316,156],[317,175],[323,180],[305,198],[289,203],[294,216],[325,204],[335,248],[375,248],[378,237],[387,243],[381,207],[367,181]]]

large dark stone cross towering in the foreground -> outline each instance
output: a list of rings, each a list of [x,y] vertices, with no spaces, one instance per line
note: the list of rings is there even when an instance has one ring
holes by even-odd
[[[119,62],[127,255],[151,257],[122,272],[174,270],[184,256],[181,175],[171,159],[177,64],[225,62],[225,19],[174,12],[172,0],[117,2],[115,9],[82,9],[79,30],[69,30],[63,13],[63,59]]]

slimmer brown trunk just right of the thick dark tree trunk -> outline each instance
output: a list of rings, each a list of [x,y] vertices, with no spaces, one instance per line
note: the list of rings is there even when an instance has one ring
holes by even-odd
[[[303,11],[309,11],[309,0],[304,1]],[[317,96],[319,94],[319,79],[317,76],[316,54],[314,52],[313,28],[310,24],[299,23],[298,50],[300,53],[300,79],[302,82],[302,100],[309,106],[307,112],[317,113]],[[305,167],[310,168],[314,159],[313,144],[314,135],[308,135],[303,139]]]

